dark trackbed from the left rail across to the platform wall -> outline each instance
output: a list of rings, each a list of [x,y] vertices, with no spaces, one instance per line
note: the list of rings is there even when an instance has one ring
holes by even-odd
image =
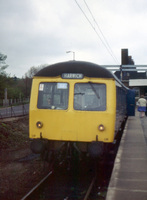
[[[119,143],[117,148],[118,145]],[[21,200],[105,199],[116,152],[114,149],[105,159],[99,161],[72,161],[70,170],[68,161],[58,162],[56,167],[53,162],[49,167],[53,170]]]

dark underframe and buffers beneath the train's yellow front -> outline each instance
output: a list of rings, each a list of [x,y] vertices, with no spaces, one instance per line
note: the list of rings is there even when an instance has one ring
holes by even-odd
[[[113,143],[93,142],[71,142],[71,141],[49,141],[46,139],[34,139],[31,143],[31,150],[41,154],[46,161],[54,158],[60,160],[73,159],[78,157],[100,158],[107,154]]]

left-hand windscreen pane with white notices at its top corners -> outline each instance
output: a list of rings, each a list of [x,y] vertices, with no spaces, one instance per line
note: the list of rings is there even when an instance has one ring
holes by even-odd
[[[39,109],[66,110],[68,94],[68,83],[40,83],[37,107]]]

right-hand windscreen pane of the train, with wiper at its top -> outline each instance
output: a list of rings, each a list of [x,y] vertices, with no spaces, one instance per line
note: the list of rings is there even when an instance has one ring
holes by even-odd
[[[74,88],[74,109],[105,111],[106,85],[91,82],[76,83]]]

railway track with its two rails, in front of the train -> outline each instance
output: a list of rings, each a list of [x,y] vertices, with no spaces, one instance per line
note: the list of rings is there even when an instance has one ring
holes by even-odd
[[[64,165],[58,166],[50,171],[21,200],[97,199],[95,197],[98,193],[98,185],[102,185],[101,182],[105,179],[103,176],[105,173],[102,172],[103,166],[95,168],[92,163],[90,168],[87,166],[85,163],[75,163],[71,170],[67,170]]]

